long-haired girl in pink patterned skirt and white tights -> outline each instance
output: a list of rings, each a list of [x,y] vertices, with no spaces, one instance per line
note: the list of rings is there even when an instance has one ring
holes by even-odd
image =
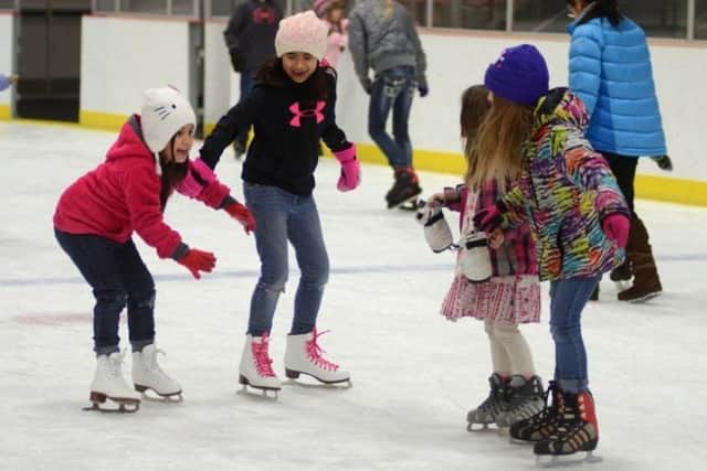
[[[506,140],[507,146],[496,142],[495,150],[479,153],[476,146],[479,128],[527,129],[530,125],[529,113],[508,113],[498,107],[489,113],[489,108],[488,90],[483,85],[464,92],[460,120],[467,162],[465,184],[433,194],[429,203],[461,213],[462,239],[474,232],[474,214],[504,194],[520,167],[519,139]],[[515,165],[503,168],[504,162],[515,162]],[[540,320],[538,264],[528,224],[520,224],[506,235],[500,246],[489,251],[492,278],[471,282],[457,269],[442,306],[442,314],[450,320],[462,317],[483,320],[488,335],[493,371],[488,378],[490,392],[477,408],[469,410],[468,430],[475,425],[509,427],[534,416],[544,406],[542,383],[536,375],[530,347],[518,330],[519,323]],[[462,248],[460,259],[464,256]]]

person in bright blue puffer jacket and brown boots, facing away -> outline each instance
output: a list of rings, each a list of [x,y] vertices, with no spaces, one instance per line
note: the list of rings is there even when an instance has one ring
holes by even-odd
[[[619,292],[619,300],[645,301],[663,288],[648,233],[634,211],[636,165],[640,157],[652,157],[661,169],[672,170],[645,32],[621,14],[616,0],[567,4],[573,18],[568,25],[569,87],[584,101],[590,117],[587,138],[609,162],[632,213],[626,261],[611,279],[623,285],[633,277],[633,286]]]

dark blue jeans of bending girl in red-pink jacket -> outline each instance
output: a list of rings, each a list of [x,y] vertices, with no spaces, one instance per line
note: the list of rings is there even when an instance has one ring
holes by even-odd
[[[93,288],[94,351],[117,352],[120,312],[128,307],[128,332],[133,350],[155,341],[155,281],[133,243],[119,244],[95,235],[54,229],[59,245]]]

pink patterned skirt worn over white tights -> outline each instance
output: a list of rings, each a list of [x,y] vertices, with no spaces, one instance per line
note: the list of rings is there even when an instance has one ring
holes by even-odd
[[[540,322],[540,282],[537,275],[511,275],[473,283],[457,274],[442,303],[442,315],[451,321],[471,317],[509,323]]]

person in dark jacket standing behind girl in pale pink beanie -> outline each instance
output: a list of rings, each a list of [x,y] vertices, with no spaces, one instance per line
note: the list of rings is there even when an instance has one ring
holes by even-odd
[[[245,0],[233,11],[223,32],[233,71],[241,74],[243,101],[253,89],[257,69],[275,56],[275,34],[283,13],[273,0]],[[245,153],[250,129],[240,131],[233,141],[235,158]]]

